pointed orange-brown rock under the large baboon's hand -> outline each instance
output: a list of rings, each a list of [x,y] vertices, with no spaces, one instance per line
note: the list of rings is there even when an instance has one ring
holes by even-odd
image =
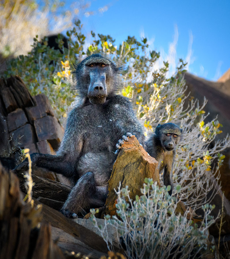
[[[129,137],[120,149],[118,157],[113,165],[112,174],[109,180],[109,194],[105,203],[105,214],[116,214],[116,194],[119,183],[121,188],[129,186],[129,196],[135,200],[135,196],[141,195],[140,188],[143,187],[144,179],[152,178],[160,185],[158,162],[148,155],[139,144],[135,136]],[[103,216],[103,215],[102,215]]]

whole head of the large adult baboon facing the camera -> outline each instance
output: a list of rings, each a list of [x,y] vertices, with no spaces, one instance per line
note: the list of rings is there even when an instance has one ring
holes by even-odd
[[[84,59],[76,68],[77,89],[93,104],[103,104],[115,94],[120,68],[109,59],[94,54]]]

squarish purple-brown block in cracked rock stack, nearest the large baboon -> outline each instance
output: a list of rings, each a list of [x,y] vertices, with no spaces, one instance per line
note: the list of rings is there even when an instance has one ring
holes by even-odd
[[[46,116],[34,121],[38,141],[48,140],[52,148],[58,148],[64,134],[63,127],[52,116]]]

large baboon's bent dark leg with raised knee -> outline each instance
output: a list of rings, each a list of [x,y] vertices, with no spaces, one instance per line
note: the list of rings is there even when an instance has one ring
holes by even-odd
[[[96,186],[94,174],[87,172],[72,188],[61,212],[67,217],[75,217],[72,214],[84,216],[90,208],[102,207],[105,204],[107,190],[106,186]]]

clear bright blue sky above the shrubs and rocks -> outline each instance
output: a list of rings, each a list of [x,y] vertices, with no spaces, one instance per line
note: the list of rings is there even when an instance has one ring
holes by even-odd
[[[101,13],[100,7],[108,6]],[[128,35],[147,37],[150,48],[171,61],[189,62],[188,71],[209,80],[230,67],[230,0],[224,1],[102,1],[93,0],[81,15],[84,33],[110,34],[121,43]]]

